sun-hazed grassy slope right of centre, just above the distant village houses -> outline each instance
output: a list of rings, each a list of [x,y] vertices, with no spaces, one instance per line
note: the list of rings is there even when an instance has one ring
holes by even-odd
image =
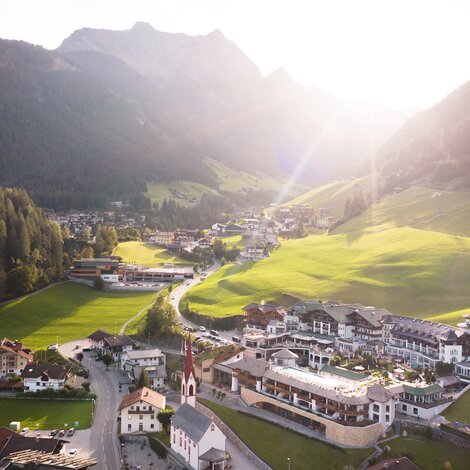
[[[287,202],[286,205],[311,204],[313,207],[326,207],[333,216],[339,218],[343,215],[346,199],[357,191],[373,189],[374,181],[372,176],[336,181],[314,188]]]

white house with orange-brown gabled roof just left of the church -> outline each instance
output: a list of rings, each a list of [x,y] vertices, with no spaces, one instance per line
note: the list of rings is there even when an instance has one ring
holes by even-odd
[[[142,387],[122,398],[119,405],[121,434],[161,431],[157,414],[165,409],[166,398]]]

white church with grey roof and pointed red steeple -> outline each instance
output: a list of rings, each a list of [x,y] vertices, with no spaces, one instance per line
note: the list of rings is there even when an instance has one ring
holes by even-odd
[[[171,420],[171,448],[194,470],[223,469],[225,435],[217,424],[196,408],[196,374],[191,341],[181,381],[181,406]]]

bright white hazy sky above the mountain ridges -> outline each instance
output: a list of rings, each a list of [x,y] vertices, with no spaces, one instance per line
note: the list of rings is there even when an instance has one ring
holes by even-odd
[[[0,0],[0,37],[54,49],[83,27],[206,34],[269,74],[395,108],[430,106],[470,80],[470,1]]]

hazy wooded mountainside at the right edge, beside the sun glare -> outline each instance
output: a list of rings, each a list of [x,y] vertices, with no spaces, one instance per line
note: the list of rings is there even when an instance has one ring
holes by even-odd
[[[386,189],[470,187],[470,82],[410,118],[378,151]]]

